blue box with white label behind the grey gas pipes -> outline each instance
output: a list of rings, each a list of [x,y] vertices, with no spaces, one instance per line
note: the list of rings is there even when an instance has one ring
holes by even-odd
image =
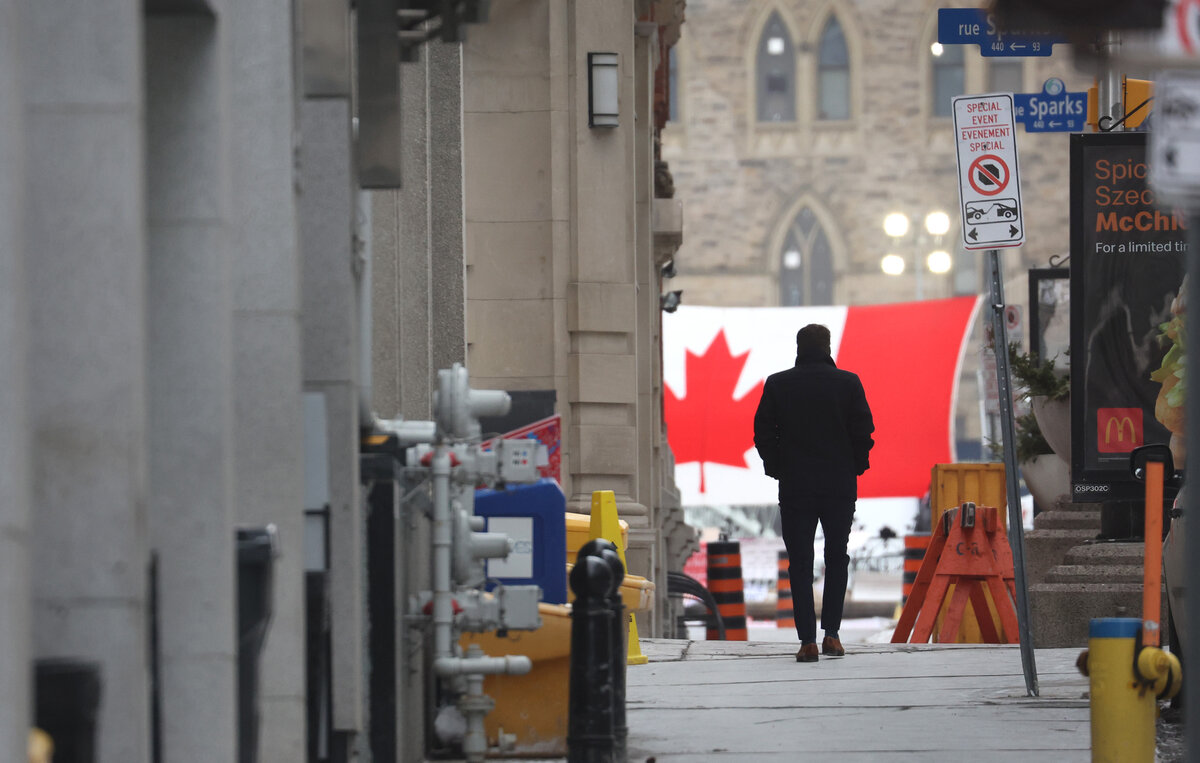
[[[475,491],[475,513],[512,539],[508,559],[487,560],[488,578],[536,584],[544,602],[566,603],[566,497],[557,481]]]

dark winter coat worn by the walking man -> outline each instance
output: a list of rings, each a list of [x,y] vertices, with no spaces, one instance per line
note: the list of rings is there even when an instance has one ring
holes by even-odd
[[[874,431],[863,383],[824,353],[769,376],[754,416],[755,447],[781,497],[857,498]]]

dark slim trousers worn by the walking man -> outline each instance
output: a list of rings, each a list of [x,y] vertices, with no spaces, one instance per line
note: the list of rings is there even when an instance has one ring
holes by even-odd
[[[792,617],[802,643],[817,639],[817,615],[812,601],[812,542],[817,522],[824,533],[826,581],[821,599],[821,629],[841,627],[850,569],[850,528],[854,521],[853,498],[780,498],[784,545],[787,547],[787,577],[792,582]]]

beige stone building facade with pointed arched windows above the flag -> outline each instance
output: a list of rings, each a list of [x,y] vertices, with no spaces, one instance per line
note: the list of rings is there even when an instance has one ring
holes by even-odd
[[[662,138],[684,200],[671,286],[684,304],[869,305],[986,289],[983,253],[956,246],[949,96],[1036,92],[1050,77],[1079,91],[1091,79],[1066,46],[1048,58],[982,58],[972,46],[935,55],[948,5],[689,2]],[[1027,268],[1068,248],[1067,134],[1018,127],[1016,138],[1026,244],[1003,256],[1010,301],[1022,301]],[[940,240],[923,230],[936,210],[950,220]],[[892,212],[911,221],[896,240],[882,226]],[[914,259],[938,248],[949,271],[926,268],[918,282]],[[901,275],[882,271],[887,253],[904,258]]]

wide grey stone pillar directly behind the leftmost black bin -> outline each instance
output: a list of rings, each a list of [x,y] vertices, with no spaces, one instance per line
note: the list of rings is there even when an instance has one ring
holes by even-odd
[[[150,752],[138,0],[26,1],[34,650],[97,662],[97,759]],[[6,427],[7,428],[7,427]]]

